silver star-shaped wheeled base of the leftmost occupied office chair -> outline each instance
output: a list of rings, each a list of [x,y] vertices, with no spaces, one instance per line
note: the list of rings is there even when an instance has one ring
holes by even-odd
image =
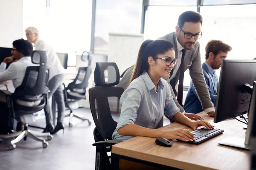
[[[15,133],[11,133],[11,134],[7,134],[7,135],[0,135],[0,141],[2,140],[2,138],[13,138],[16,137],[14,140],[12,140],[9,144],[9,150],[13,150],[16,148],[16,143],[20,142],[22,139],[26,138],[26,136],[42,142],[43,144],[43,148],[46,148],[49,144],[48,142],[46,142],[45,139],[41,138],[41,137],[47,137],[47,140],[52,140],[52,135],[50,133],[41,133],[38,131],[34,131],[34,130],[23,130],[23,131],[18,131]]]

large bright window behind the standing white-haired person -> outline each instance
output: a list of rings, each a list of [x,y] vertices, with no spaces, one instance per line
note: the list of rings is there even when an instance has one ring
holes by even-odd
[[[23,38],[29,26],[56,52],[69,53],[76,65],[76,51],[90,51],[92,0],[23,0]]]

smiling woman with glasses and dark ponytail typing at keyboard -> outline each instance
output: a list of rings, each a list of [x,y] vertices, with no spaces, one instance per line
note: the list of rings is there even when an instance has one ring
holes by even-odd
[[[213,129],[204,120],[193,121],[180,113],[168,83],[161,77],[169,77],[177,63],[174,46],[166,40],[146,40],[140,47],[131,82],[121,96],[121,115],[112,138],[127,140],[132,136],[164,137],[192,141],[195,136],[189,130],[163,131],[154,129],[165,112],[169,119],[192,127]]]

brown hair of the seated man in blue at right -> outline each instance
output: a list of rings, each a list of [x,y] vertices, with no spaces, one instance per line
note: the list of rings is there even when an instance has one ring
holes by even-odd
[[[220,52],[229,52],[232,48],[220,40],[209,40],[205,46],[205,59],[209,58],[209,53],[212,52],[214,56],[218,55]]]

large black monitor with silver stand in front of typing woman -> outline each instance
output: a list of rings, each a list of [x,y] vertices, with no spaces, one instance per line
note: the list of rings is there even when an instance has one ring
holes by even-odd
[[[214,122],[247,113],[249,122],[245,139],[230,137],[219,144],[249,149],[249,138],[256,112],[256,60],[222,59]]]

